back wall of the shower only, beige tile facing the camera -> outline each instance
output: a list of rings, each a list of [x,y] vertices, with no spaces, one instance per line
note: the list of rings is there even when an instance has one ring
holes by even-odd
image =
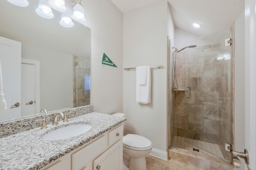
[[[218,44],[177,53],[179,89],[191,88],[190,99],[184,91],[177,94],[177,136],[218,143],[219,53]]]

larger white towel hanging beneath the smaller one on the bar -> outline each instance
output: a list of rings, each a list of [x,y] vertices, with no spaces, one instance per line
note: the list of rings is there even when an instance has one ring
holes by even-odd
[[[136,101],[138,103],[148,104],[151,102],[151,69],[150,66],[147,67],[147,78],[146,84],[141,85],[139,84],[140,74],[137,74],[137,67],[136,67]]]

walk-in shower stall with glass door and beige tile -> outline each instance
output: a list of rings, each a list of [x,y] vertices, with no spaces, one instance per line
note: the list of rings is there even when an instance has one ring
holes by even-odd
[[[170,40],[170,147],[231,161],[231,31]]]

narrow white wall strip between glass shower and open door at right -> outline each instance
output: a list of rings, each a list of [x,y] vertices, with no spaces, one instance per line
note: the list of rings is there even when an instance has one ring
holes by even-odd
[[[244,10],[238,16],[234,24],[234,150],[243,152],[245,146],[245,28],[244,28]],[[244,160],[241,160],[244,164]],[[244,169],[244,165],[240,169]]]

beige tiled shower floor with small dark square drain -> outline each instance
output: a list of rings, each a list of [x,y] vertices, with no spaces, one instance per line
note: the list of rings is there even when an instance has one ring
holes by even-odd
[[[189,150],[196,154],[205,154],[214,157],[218,156],[219,158],[224,159],[220,146],[214,143],[174,136],[172,147]],[[193,149],[199,150],[199,152],[194,151]]]

